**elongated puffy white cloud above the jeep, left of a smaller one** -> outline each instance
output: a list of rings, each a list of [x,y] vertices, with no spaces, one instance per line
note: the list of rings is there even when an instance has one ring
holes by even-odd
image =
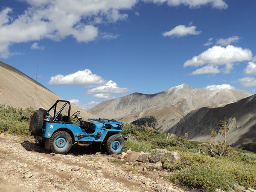
[[[91,84],[104,84],[106,81],[101,76],[93,74],[90,70],[77,71],[67,76],[56,75],[52,76],[48,82],[49,85],[56,84],[69,84],[69,85],[91,85]]]

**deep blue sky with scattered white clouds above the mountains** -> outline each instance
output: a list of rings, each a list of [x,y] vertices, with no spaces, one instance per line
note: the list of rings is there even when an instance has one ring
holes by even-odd
[[[1,0],[0,25],[0,60],[85,110],[183,83],[256,92],[255,0]]]

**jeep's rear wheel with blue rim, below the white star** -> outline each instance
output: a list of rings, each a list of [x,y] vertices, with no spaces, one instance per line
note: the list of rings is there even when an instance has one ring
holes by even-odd
[[[66,131],[58,131],[50,138],[50,150],[53,153],[66,154],[72,147],[72,137]]]

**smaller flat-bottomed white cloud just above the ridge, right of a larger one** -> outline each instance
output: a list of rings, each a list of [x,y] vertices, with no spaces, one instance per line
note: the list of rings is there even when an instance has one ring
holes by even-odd
[[[87,90],[87,95],[96,95],[99,93],[125,93],[128,91],[131,91],[131,89],[118,87],[114,81],[110,80],[102,86]]]

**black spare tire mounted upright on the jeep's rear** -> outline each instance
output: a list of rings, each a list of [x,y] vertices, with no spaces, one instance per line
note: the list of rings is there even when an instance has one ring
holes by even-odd
[[[43,111],[37,110],[32,116],[31,131],[33,134],[40,134],[44,125]]]

